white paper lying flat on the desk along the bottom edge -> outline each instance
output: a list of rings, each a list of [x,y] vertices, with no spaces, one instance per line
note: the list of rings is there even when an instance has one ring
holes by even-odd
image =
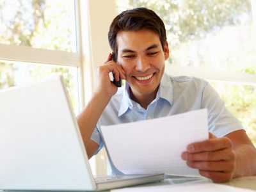
[[[186,182],[182,184],[167,184],[161,186],[138,186],[134,188],[123,188],[123,189],[112,189],[111,192],[141,192],[141,191],[189,191],[189,192],[216,192],[216,191],[225,191],[225,192],[252,192],[251,189],[242,189],[235,188],[232,186],[227,186],[225,184],[214,184],[211,182]]]

